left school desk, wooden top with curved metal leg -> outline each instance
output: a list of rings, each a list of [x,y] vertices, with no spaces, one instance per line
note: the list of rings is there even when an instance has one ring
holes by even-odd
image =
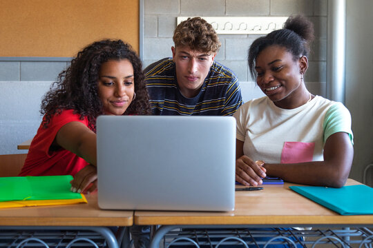
[[[115,235],[108,227],[133,225],[133,211],[101,210],[97,205],[97,194],[87,195],[86,198],[88,204],[0,209],[0,231],[88,230],[100,234],[101,239],[104,237],[108,247],[119,247]]]

